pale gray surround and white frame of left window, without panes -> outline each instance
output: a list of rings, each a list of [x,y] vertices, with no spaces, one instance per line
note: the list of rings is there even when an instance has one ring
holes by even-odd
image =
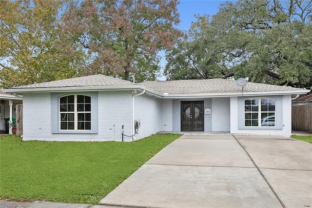
[[[74,108],[75,110],[75,127],[74,129],[61,129],[60,128],[60,98],[65,96],[74,95]],[[78,114],[85,111],[77,111],[77,96],[83,95],[91,98],[91,129],[78,129]],[[66,113],[66,112],[64,112]],[[51,93],[51,133],[64,133],[64,134],[97,134],[98,133],[98,92],[66,92],[66,93]]]

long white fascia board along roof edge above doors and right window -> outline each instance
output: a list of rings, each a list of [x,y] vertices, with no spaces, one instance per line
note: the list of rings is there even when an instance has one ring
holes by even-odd
[[[231,93],[207,93],[207,94],[177,94],[162,95],[164,99],[192,99],[192,98],[216,98],[216,97],[242,97],[242,96],[268,96],[268,95],[297,95],[306,94],[310,90],[299,89],[290,91],[264,91],[264,92],[231,92]]]

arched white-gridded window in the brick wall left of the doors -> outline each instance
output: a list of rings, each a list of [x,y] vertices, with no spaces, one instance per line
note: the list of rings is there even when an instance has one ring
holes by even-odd
[[[59,129],[91,130],[91,97],[85,95],[60,97]]]

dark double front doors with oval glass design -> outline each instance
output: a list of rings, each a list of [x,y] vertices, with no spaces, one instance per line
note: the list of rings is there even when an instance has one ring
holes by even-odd
[[[181,102],[181,131],[204,131],[204,101]]]

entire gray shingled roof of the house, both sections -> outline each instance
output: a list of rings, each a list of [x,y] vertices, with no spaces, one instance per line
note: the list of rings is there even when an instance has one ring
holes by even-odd
[[[120,80],[104,75],[90,75],[85,77],[77,77],[72,79],[58,80],[46,83],[29,84],[19,87],[12,87],[15,92],[23,92],[24,90],[44,89],[49,91],[51,88],[66,90],[66,87],[97,87],[101,88],[141,88],[143,86],[147,91],[152,93],[168,93],[169,95],[200,95],[200,94],[222,94],[222,93],[239,93],[242,87],[236,84],[236,81],[225,79],[206,79],[206,80],[176,80],[176,81],[147,81],[143,83],[131,83],[129,81]],[[19,91],[20,90],[20,91]],[[261,83],[247,83],[244,87],[244,92],[278,92],[278,91],[293,91],[301,90],[298,88],[277,86]]]

